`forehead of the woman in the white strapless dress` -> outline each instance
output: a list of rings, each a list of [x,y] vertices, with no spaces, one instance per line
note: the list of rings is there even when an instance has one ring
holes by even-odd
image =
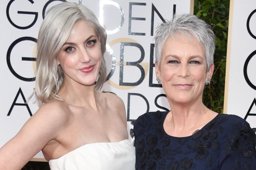
[[[87,20],[80,19],[77,22],[75,22],[67,41],[74,41],[79,38],[89,37],[91,35],[96,36],[96,31],[93,24],[91,24]]]

